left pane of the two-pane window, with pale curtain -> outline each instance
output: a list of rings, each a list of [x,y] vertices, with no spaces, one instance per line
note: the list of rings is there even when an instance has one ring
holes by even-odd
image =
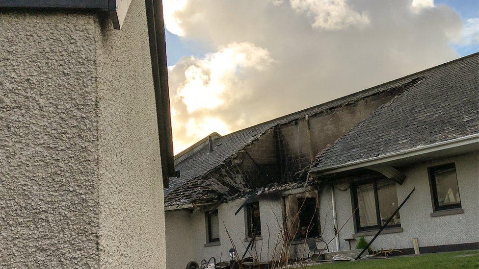
[[[356,187],[359,211],[359,226],[377,225],[376,203],[373,183]]]

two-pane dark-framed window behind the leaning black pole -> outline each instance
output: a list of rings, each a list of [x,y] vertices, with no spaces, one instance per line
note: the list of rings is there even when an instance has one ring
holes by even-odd
[[[357,231],[378,229],[391,217],[398,208],[396,184],[387,178],[377,178],[352,187]],[[399,212],[389,222],[388,227],[399,227]]]

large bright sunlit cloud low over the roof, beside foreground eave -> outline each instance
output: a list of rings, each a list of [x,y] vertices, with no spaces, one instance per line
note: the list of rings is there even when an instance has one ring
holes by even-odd
[[[227,124],[214,112],[250,93],[243,81],[250,74],[264,71],[271,62],[273,59],[266,49],[249,42],[233,42],[202,58],[185,57],[170,66],[171,115],[176,140],[197,140],[212,130],[229,133],[234,124]],[[237,117],[235,121],[241,124],[244,119]],[[175,151],[186,147],[185,143],[175,145]]]

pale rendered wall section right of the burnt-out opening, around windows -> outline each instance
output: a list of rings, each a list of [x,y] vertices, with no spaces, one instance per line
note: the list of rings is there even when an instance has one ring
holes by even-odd
[[[427,167],[455,163],[459,193],[461,195],[463,214],[431,217],[432,201],[429,188],[429,179]],[[463,243],[475,243],[479,241],[478,236],[478,153],[449,157],[441,160],[428,161],[403,168],[401,171],[406,175],[406,180],[402,185],[396,185],[399,203],[416,188],[413,195],[404,204],[399,211],[401,216],[402,232],[393,234],[381,234],[374,241],[373,248],[410,248],[412,238],[419,239],[420,246],[433,245],[453,245]],[[352,213],[351,194],[348,189],[345,192],[336,190],[336,208],[338,214],[338,226],[341,227],[346,219]],[[324,222],[321,219],[325,239],[332,238],[333,222],[330,216],[331,211],[331,192],[330,188],[324,188],[320,192],[321,218],[328,214],[328,220]],[[345,238],[352,237],[354,233],[354,224],[349,220],[340,233],[341,249],[348,249]],[[373,236],[365,237],[371,240]],[[334,241],[331,242],[334,246]],[[330,245],[331,246],[331,245]]]

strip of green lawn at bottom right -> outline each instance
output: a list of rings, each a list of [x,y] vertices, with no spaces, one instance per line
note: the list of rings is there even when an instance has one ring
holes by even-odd
[[[479,268],[479,252],[458,251],[446,253],[432,253],[420,256],[407,256],[387,260],[361,260],[354,262],[324,263],[310,267],[309,269],[329,268],[354,268],[354,269],[376,269],[376,268]]]

